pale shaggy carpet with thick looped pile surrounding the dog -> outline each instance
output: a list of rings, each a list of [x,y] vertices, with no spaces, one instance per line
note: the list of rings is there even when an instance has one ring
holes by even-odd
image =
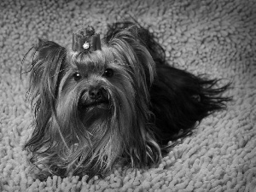
[[[76,0],[0,2],[0,191],[256,191],[256,1]],[[136,18],[154,31],[171,65],[232,81],[227,110],[204,119],[159,166],[116,166],[106,178],[30,175],[32,132],[20,61],[38,37],[71,44],[83,24]],[[23,67],[26,70],[28,65]]]

